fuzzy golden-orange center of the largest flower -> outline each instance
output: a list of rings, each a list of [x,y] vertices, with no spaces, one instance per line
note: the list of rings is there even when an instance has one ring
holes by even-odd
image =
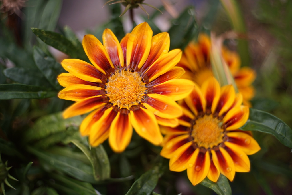
[[[128,108],[137,105],[143,98],[145,83],[139,73],[131,73],[128,70],[117,70],[107,82],[106,92],[109,101],[120,108]]]

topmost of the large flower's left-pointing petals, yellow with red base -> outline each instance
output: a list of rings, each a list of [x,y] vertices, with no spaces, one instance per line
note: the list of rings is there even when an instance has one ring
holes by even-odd
[[[96,70],[96,68],[79,59],[65,59],[61,62],[63,68],[72,75],[89,82],[105,82],[104,74]]]

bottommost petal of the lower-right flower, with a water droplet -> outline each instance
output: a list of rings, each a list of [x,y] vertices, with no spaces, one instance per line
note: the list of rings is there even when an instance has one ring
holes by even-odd
[[[207,177],[209,169],[209,152],[199,152],[194,165],[190,168],[187,168],[187,177],[193,185],[197,185]]]

